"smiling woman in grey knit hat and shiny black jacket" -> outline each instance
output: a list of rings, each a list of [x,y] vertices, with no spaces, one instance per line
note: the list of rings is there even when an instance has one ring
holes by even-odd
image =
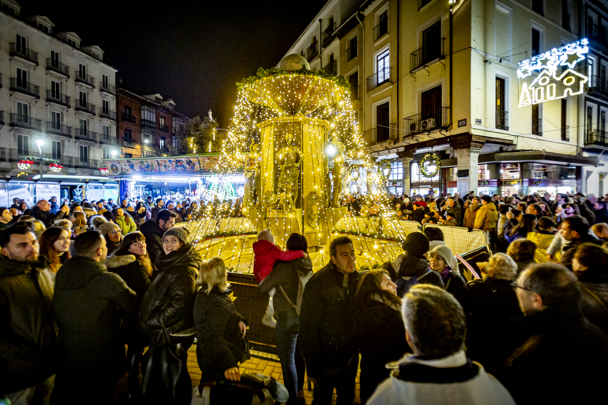
[[[139,325],[150,340],[142,361],[142,403],[189,404],[187,358],[196,334],[193,308],[202,258],[188,242],[185,228],[166,231],[162,250],[154,262],[158,274],[139,313]]]

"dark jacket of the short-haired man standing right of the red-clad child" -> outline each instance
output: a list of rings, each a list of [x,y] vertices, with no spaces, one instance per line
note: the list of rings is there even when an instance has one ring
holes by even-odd
[[[330,262],[311,277],[304,289],[300,337],[306,372],[313,378],[344,366],[356,353],[351,304],[359,273],[355,270],[347,277],[344,286],[344,274]]]

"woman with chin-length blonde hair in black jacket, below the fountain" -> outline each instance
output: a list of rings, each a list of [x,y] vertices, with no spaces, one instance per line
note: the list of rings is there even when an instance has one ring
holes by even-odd
[[[239,362],[244,361],[246,320],[228,296],[230,285],[224,260],[204,262],[196,279],[199,288],[194,304],[196,359],[201,381],[240,381]]]

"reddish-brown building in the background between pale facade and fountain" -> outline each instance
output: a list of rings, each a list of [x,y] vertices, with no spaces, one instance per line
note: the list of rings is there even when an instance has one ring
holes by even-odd
[[[140,96],[117,89],[119,157],[173,154],[190,118],[175,111],[175,103],[160,94]],[[109,157],[109,156],[108,156]]]

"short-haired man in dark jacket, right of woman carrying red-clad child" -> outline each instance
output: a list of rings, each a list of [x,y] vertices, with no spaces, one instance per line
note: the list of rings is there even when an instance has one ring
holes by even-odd
[[[346,236],[330,244],[330,264],[306,284],[300,313],[300,337],[314,403],[331,404],[334,388],[340,404],[352,404],[359,355],[353,339],[351,302],[359,280],[353,242]]]

